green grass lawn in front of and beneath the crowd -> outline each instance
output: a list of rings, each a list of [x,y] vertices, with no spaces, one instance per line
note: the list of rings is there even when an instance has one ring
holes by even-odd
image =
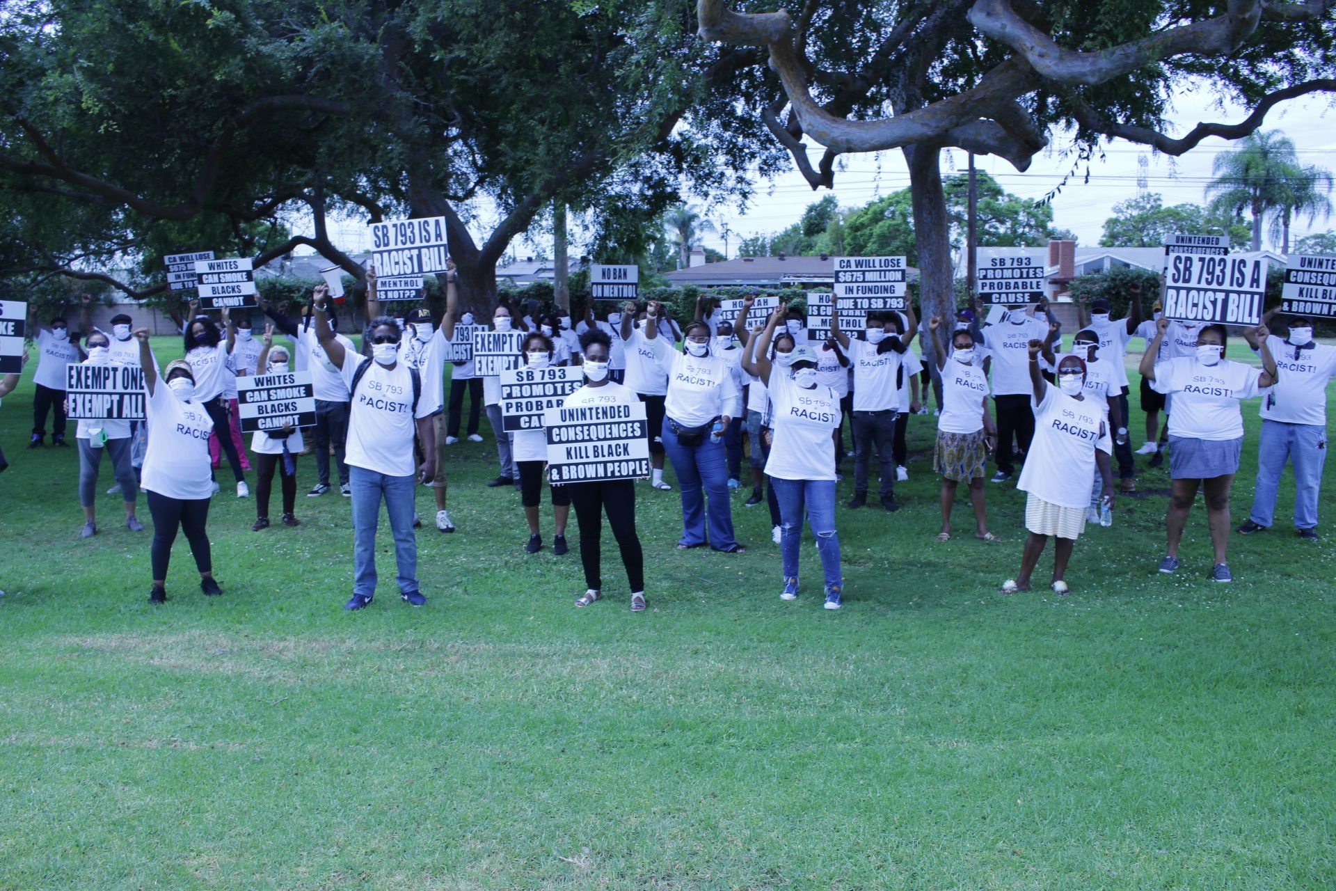
[[[676,552],[677,493],[643,486],[637,616],[611,534],[609,597],[582,610],[574,552],[522,553],[485,430],[446,468],[458,533],[420,490],[425,608],[394,597],[382,530],[381,596],[343,612],[347,501],[299,497],[299,529],[253,533],[226,472],[226,596],[178,538],[152,608],[150,533],[99,496],[102,532],[76,537],[77,456],[24,450],[31,395],[0,409],[0,888],[1336,886],[1333,549],[1293,536],[1288,481],[1276,529],[1234,537],[1233,585],[1206,581],[1200,504],[1182,569],[1156,572],[1164,469],[1077,544],[1073,596],[1003,597],[1021,494],[987,488],[1003,544],[967,534],[963,500],[966,534],[934,541],[935,425],[912,418],[903,509],[838,516],[842,610],[810,542],[807,588],[779,600],[745,490],[749,550],[727,557]],[[1136,381],[1132,401],[1136,446]]]

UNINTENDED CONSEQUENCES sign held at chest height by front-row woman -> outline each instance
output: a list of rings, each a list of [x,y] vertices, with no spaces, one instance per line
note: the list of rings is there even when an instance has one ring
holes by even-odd
[[[649,476],[645,403],[548,409],[548,481],[593,482]]]

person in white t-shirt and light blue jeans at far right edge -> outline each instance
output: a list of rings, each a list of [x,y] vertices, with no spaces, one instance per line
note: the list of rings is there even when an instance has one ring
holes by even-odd
[[[1267,322],[1273,313],[1263,317]],[[1253,350],[1256,334],[1244,337]],[[1269,529],[1276,516],[1276,492],[1289,462],[1295,472],[1295,530],[1300,538],[1317,541],[1317,496],[1327,462],[1327,385],[1336,375],[1336,347],[1313,339],[1313,321],[1289,319],[1285,339],[1271,335],[1267,345],[1283,373],[1261,401],[1261,437],[1257,439],[1257,486],[1242,534]]]

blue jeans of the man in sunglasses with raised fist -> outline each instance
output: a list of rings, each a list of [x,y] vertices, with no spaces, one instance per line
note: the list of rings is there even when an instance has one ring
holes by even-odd
[[[417,536],[413,534],[413,494],[417,477],[391,477],[349,465],[353,488],[353,593],[375,594],[375,530],[381,525],[381,497],[394,533],[394,560],[399,592],[411,594],[417,584]]]

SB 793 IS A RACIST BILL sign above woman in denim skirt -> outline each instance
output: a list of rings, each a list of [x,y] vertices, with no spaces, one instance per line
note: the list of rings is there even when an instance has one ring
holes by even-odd
[[[1180,322],[1261,325],[1267,260],[1261,256],[1170,254],[1164,314]]]

